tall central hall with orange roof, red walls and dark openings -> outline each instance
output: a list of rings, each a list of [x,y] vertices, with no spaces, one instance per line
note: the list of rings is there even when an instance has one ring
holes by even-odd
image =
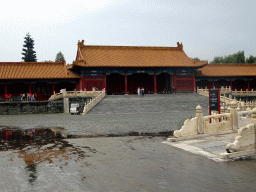
[[[207,61],[191,60],[177,47],[91,46],[78,41],[68,69],[80,76],[77,90],[105,88],[108,94],[195,92],[195,70]]]

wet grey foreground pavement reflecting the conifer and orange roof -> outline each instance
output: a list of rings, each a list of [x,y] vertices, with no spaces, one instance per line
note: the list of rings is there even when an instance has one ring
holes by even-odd
[[[163,137],[80,138],[0,152],[1,191],[254,191],[255,160],[216,162]]]

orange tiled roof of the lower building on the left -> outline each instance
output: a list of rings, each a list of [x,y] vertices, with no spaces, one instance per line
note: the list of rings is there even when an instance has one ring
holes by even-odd
[[[63,62],[0,62],[0,79],[72,79]]]

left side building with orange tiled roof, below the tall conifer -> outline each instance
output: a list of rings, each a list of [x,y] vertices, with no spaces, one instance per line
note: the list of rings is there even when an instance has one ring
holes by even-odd
[[[46,100],[60,89],[75,89],[79,78],[67,70],[65,61],[0,62],[0,99],[5,94],[36,93],[38,100]]]

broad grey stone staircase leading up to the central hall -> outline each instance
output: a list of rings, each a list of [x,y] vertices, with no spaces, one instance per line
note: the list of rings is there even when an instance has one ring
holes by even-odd
[[[197,94],[108,95],[88,114],[180,113],[194,111],[200,104],[208,114],[207,99]],[[202,102],[203,101],[203,102]],[[185,112],[186,113],[186,112]]]

